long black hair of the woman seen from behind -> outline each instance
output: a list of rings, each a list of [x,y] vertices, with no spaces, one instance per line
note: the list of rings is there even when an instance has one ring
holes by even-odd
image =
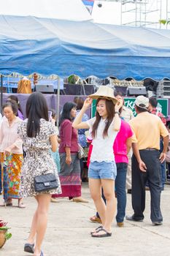
[[[32,93],[26,102],[27,135],[36,138],[40,131],[40,119],[48,121],[48,107],[45,97],[41,92]]]

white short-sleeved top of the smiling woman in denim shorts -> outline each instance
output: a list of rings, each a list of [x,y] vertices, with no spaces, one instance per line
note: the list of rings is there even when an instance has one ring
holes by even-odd
[[[93,127],[93,124],[96,120],[96,117],[89,119],[85,123],[88,124],[90,128]],[[114,119],[113,119],[114,120]],[[96,137],[93,138],[93,150],[90,157],[90,162],[115,162],[115,156],[113,153],[113,143],[117,136],[117,132],[113,129],[113,121],[109,126],[108,135],[103,137],[104,127],[106,119],[101,118]]]

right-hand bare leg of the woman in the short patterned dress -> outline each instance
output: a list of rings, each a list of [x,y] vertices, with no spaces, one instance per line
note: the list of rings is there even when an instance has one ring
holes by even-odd
[[[36,210],[36,245],[34,256],[39,256],[41,253],[42,241],[45,237],[47,228],[47,213],[50,206],[50,194],[37,195],[38,208]]]

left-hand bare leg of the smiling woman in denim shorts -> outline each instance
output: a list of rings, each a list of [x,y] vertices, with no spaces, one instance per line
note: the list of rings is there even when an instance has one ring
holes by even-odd
[[[101,180],[96,178],[89,178],[89,188],[90,195],[94,201],[98,214],[101,217],[101,222],[104,225],[107,207],[101,197]]]

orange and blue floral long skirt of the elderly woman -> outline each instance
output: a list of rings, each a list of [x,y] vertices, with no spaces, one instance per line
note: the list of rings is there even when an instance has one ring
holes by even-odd
[[[8,198],[20,198],[18,195],[20,187],[20,171],[23,164],[23,154],[11,154],[9,157],[1,153],[1,182],[4,200]]]

